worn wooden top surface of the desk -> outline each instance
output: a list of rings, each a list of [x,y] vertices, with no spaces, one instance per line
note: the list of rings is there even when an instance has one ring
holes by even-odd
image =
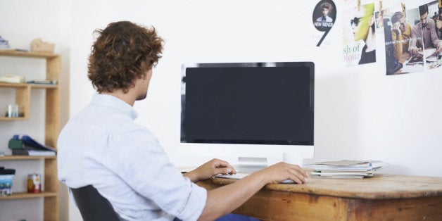
[[[213,184],[235,179],[213,178]],[[306,184],[267,184],[264,189],[301,194],[360,199],[393,199],[442,196],[442,177],[374,175],[363,179],[310,178]]]

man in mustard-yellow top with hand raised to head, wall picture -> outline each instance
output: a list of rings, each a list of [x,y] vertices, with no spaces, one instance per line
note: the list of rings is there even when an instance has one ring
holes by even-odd
[[[405,16],[402,12],[398,11],[391,16],[391,39],[394,47],[394,56],[398,61],[403,53],[408,52],[410,46],[411,26],[405,23]]]

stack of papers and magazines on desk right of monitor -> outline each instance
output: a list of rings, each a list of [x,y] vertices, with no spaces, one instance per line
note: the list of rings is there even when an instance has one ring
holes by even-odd
[[[339,160],[313,163],[312,177],[317,178],[364,178],[373,177],[385,163],[379,160]]]

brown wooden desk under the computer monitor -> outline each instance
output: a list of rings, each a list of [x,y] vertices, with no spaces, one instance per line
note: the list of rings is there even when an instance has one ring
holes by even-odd
[[[214,189],[236,182],[212,178]],[[442,177],[375,175],[267,184],[234,213],[260,220],[442,220]]]

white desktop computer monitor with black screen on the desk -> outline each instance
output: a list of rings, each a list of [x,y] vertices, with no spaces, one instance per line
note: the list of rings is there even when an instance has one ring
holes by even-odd
[[[183,64],[179,150],[196,165],[312,158],[314,95],[312,62]]]

